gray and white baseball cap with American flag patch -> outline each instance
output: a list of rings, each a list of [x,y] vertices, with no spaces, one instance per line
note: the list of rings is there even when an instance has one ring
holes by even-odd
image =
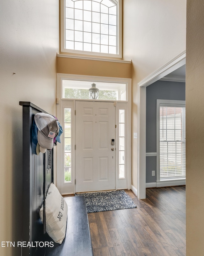
[[[59,125],[54,116],[46,113],[37,113],[34,116],[35,124],[38,127],[38,143],[40,152],[53,148],[53,139],[59,133]]]

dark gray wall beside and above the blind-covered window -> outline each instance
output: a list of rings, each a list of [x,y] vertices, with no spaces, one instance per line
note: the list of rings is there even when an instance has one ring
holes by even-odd
[[[185,83],[157,81],[146,91],[146,152],[157,152],[157,99],[185,100]],[[146,183],[156,182],[157,156],[146,156]],[[155,176],[152,176],[155,171]]]

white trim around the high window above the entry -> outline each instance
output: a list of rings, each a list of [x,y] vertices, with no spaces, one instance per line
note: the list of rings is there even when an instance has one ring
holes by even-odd
[[[65,3],[66,0],[60,0],[60,51],[66,53],[72,53],[77,55],[92,55],[100,57],[110,58],[122,58],[122,0],[116,0],[118,2],[118,54],[100,53],[100,52],[86,52],[78,50],[65,49]]]

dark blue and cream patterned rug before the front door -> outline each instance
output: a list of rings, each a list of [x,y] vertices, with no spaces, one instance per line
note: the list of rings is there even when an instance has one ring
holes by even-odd
[[[132,198],[124,190],[80,193],[75,196],[85,196],[87,213],[105,212],[135,208]]]

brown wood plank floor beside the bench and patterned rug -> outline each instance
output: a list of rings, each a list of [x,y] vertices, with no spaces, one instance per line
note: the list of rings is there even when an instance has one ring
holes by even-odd
[[[88,213],[94,256],[185,256],[185,186],[126,193],[137,208]]]

